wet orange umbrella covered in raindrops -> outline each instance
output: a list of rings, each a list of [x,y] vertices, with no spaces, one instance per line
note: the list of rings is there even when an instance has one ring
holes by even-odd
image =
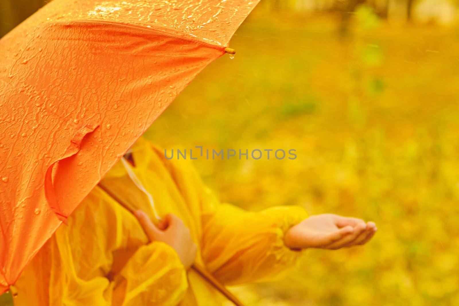
[[[0,292],[258,0],[54,0],[0,40]]]

